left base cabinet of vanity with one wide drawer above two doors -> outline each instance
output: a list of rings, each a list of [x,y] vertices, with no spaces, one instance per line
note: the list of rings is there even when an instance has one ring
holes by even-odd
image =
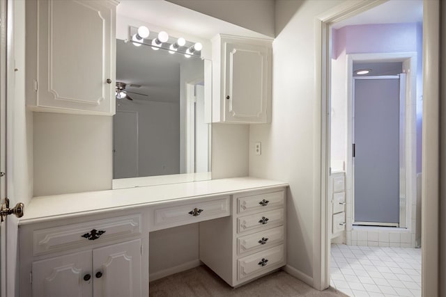
[[[21,228],[20,251],[25,263],[21,296],[31,296],[29,291],[33,297],[144,296],[148,254],[142,254],[148,248],[144,243],[148,236],[143,234],[142,215],[84,220]],[[23,282],[26,273],[29,285]]]

